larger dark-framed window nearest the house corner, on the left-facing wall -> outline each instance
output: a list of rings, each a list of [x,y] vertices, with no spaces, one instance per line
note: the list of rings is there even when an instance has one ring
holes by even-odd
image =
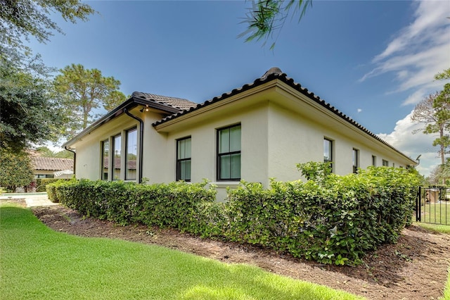
[[[217,130],[217,179],[240,180],[240,125]]]

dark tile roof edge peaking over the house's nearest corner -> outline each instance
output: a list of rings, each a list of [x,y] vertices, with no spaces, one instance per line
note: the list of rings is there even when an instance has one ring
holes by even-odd
[[[262,77],[257,78],[252,83],[248,83],[246,85],[243,85],[242,87],[233,89],[231,92],[221,94],[221,96],[215,96],[213,99],[207,100],[207,101],[203,102],[203,104],[197,104],[195,106],[192,106],[191,108],[188,108],[185,111],[180,111],[179,113],[174,113],[172,115],[169,115],[166,118],[163,118],[162,120],[158,120],[157,122],[153,123],[152,125],[153,125],[153,127],[156,127],[162,123],[168,122],[169,120],[174,120],[176,118],[179,118],[181,115],[186,115],[193,111],[197,111],[200,108],[217,103],[221,100],[227,99],[227,98],[234,96],[236,94],[239,94],[241,92],[245,92],[245,91],[252,89],[254,87],[257,87],[259,85],[263,85],[264,83],[270,82],[271,80],[280,80],[281,82],[284,82],[286,85],[293,87],[293,89],[296,89],[298,92],[304,94],[304,96],[307,96],[309,99],[311,99],[311,101],[314,101],[317,104],[320,104],[324,108],[328,109],[328,111],[335,113],[335,115],[338,115],[338,117],[340,117],[343,120],[347,121],[348,123],[352,124],[354,127],[358,128],[359,130],[362,130],[367,135],[370,135],[374,139],[377,139],[379,142],[385,144],[386,146],[389,146],[391,149],[393,149],[394,151],[397,151],[402,156],[409,158],[405,154],[401,153],[401,151],[395,149],[394,146],[388,144],[383,139],[380,139],[380,137],[373,134],[373,132],[366,129],[366,127],[360,125],[355,120],[350,118],[348,115],[345,115],[344,113],[342,113],[342,111],[339,111],[334,106],[328,104],[326,101],[323,101],[323,99],[321,99],[319,96],[316,96],[313,92],[309,92],[308,89],[302,87],[302,85],[300,85],[300,83],[295,82],[292,78],[288,77],[288,75],[283,73],[283,71],[281,71],[280,68],[276,68],[276,67],[270,68],[269,70],[267,70],[266,73],[264,73],[264,75],[262,75]],[[409,159],[411,160],[411,158],[409,158]]]

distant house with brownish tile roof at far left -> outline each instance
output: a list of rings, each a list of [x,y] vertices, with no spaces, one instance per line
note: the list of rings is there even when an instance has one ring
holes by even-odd
[[[35,178],[70,178],[73,175],[73,159],[33,156]]]

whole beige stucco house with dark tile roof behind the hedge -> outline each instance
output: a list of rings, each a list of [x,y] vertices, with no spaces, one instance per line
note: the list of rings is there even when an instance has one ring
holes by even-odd
[[[307,161],[330,161],[340,175],[368,165],[416,165],[278,68],[203,104],[134,92],[63,146],[76,152],[78,178],[206,178],[219,199],[239,180],[297,180],[296,164]]]

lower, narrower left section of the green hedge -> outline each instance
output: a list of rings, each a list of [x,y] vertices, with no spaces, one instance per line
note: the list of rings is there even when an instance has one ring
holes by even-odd
[[[200,233],[198,220],[206,220],[215,201],[207,182],[137,185],[132,182],[70,180],[48,185],[49,199],[84,215],[121,225],[141,223]],[[53,192],[54,190],[54,192]],[[205,208],[206,207],[206,208]]]

